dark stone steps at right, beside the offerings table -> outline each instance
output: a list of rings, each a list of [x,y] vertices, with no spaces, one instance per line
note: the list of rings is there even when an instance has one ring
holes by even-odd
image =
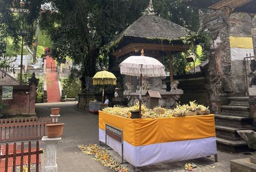
[[[248,145],[237,130],[253,130],[248,97],[228,97],[227,105],[221,105],[221,114],[215,115],[218,149],[230,152],[248,151]]]

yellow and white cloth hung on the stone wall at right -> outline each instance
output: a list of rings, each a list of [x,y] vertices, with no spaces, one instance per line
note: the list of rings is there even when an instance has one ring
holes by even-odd
[[[231,60],[244,60],[246,54],[254,56],[253,39],[251,37],[230,36]]]

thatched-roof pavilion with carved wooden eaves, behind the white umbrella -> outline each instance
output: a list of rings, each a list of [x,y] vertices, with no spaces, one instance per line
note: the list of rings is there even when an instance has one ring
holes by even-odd
[[[189,32],[187,28],[155,14],[144,14],[108,43],[108,48],[113,51],[109,64],[112,69],[116,69],[119,61],[129,56],[140,56],[141,49],[144,49],[146,56],[157,58],[159,61],[163,60],[163,56],[168,56],[172,83],[172,53],[187,52],[189,46],[184,45],[180,37]]]

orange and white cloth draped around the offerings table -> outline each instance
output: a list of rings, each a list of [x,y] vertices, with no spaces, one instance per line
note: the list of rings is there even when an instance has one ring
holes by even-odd
[[[105,124],[123,130],[123,156],[136,167],[217,154],[214,115],[128,119],[99,111],[104,143]],[[107,137],[107,144],[122,154],[120,142]]]

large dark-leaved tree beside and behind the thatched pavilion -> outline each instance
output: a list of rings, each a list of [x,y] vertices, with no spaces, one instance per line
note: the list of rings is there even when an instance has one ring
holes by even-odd
[[[67,56],[72,58],[80,69],[84,85],[84,76],[93,76],[96,72],[101,47],[137,20],[149,0],[51,2],[56,10],[46,10],[40,21],[42,30],[47,31],[52,41],[50,53],[59,62]],[[198,29],[198,10],[183,6],[179,0],[153,3],[159,16],[189,29]],[[104,58],[99,62],[106,61],[105,54],[101,57]]]

